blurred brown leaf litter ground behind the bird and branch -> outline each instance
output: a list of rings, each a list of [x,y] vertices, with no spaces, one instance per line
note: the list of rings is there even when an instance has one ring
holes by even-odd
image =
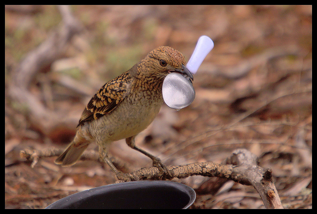
[[[197,39],[215,44],[194,75],[196,98],[163,104],[136,144],[166,165],[223,161],[246,148],[271,168],[284,208],[312,207],[312,6],[5,6],[5,207],[45,208],[114,183],[107,165],[72,167],[24,148],[66,148],[86,104],[155,47],[188,61]],[[89,149],[95,149],[90,145]],[[126,171],[151,160],[114,142]],[[252,186],[193,176],[191,208],[264,208]]]

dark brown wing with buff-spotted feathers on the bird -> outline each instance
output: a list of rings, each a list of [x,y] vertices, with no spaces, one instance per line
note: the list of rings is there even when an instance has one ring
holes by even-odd
[[[78,126],[83,125],[85,122],[97,120],[114,110],[126,97],[130,79],[129,73],[126,72],[102,86],[87,104]]]

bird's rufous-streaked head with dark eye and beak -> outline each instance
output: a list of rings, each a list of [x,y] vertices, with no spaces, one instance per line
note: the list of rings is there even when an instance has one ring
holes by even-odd
[[[139,64],[140,75],[164,80],[167,74],[177,72],[193,80],[193,75],[185,67],[182,53],[168,46],[161,46],[151,51]],[[143,73],[143,74],[141,74]]]

